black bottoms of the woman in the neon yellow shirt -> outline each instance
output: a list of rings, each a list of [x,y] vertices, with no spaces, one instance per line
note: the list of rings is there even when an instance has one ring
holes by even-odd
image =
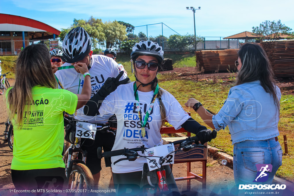
[[[62,167],[36,170],[11,170],[16,190],[64,189],[66,176]],[[19,193],[19,195],[41,195],[42,193]],[[55,193],[54,193],[55,194]]]

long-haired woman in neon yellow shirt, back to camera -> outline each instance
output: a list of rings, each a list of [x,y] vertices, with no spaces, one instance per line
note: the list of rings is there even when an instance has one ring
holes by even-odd
[[[84,74],[81,94],[57,89],[47,47],[24,48],[15,66],[15,85],[6,92],[9,119],[14,125],[11,177],[18,190],[62,189],[63,111],[73,114],[91,94],[85,63],[74,65]],[[55,69],[56,70],[56,69]]]

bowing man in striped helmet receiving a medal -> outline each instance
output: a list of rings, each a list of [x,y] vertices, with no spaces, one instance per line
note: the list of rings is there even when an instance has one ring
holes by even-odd
[[[62,43],[63,60],[66,62],[64,66],[74,65],[77,62],[85,63],[88,66],[91,75],[91,97],[94,96],[103,86],[104,82],[109,77],[117,77],[120,71],[124,68],[119,67],[118,64],[111,58],[104,55],[92,55],[91,38],[88,33],[81,27],[71,29],[65,36]],[[87,74],[87,73],[85,73]],[[84,75],[85,75],[84,74]],[[121,73],[121,83],[128,83],[129,79],[126,72]],[[78,70],[72,68],[62,69],[56,72],[56,76],[63,85],[63,87],[73,93],[81,93],[83,88],[84,76]],[[111,118],[112,117],[112,118]],[[113,120],[113,114],[106,114],[101,116],[86,116],[83,114],[83,108],[77,110],[75,118],[78,120],[87,120],[89,123],[106,123],[111,125],[111,129],[116,129],[116,117]],[[110,119],[111,120],[108,120]],[[114,123],[115,121],[115,123]],[[94,177],[94,182],[98,186],[101,170],[101,159],[97,157],[97,148],[100,146],[104,151],[110,151],[113,147],[115,135],[111,132],[96,133],[95,140],[85,139],[84,145],[81,146],[86,150],[87,161],[86,166],[91,170]],[[83,140],[82,140],[83,142]],[[110,159],[105,159],[106,167],[111,166]]]

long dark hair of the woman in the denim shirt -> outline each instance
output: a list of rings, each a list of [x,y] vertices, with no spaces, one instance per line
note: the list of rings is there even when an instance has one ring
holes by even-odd
[[[272,65],[262,46],[258,43],[245,43],[240,48],[238,55],[242,66],[238,72],[236,85],[260,81],[260,85],[265,92],[273,96],[274,103],[278,106],[278,111],[280,111],[280,103],[276,96],[277,81],[274,78]]]

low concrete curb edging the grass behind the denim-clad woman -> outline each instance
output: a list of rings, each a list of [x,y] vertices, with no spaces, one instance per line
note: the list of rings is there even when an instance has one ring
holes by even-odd
[[[229,165],[230,167],[233,168],[233,157],[231,155],[220,152],[220,151],[222,151],[221,149],[212,147],[210,145],[207,145],[207,151],[218,159],[221,159],[221,160],[225,159],[228,162],[227,165]],[[280,185],[284,184],[287,186],[287,189],[289,189],[292,192],[294,191],[294,183],[293,182],[290,182],[288,180],[280,178],[276,175],[273,179],[273,184],[280,184]]]

